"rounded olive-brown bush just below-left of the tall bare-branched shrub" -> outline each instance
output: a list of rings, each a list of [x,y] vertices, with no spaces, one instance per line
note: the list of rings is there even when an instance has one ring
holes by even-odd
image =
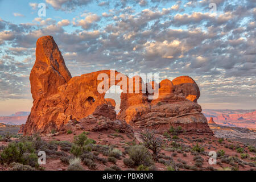
[[[144,166],[152,165],[150,152],[144,146],[131,146],[128,155],[134,162],[134,166],[143,164]]]

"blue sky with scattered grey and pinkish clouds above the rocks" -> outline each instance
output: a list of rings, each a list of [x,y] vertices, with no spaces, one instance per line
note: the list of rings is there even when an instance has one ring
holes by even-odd
[[[30,110],[29,75],[44,35],[72,76],[188,75],[203,109],[256,109],[255,19],[255,0],[0,0],[0,115]]]

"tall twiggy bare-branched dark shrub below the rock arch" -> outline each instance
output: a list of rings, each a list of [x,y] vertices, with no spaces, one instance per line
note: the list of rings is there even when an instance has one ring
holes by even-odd
[[[146,130],[144,133],[141,133],[141,138],[144,146],[149,150],[152,150],[153,158],[157,161],[163,143],[162,139],[160,137],[156,137],[155,130]]]

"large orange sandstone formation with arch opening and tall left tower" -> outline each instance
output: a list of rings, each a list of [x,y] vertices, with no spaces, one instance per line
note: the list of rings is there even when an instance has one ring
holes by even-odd
[[[98,79],[101,75],[105,76]],[[109,79],[104,80],[104,77]],[[119,80],[126,82],[120,84]],[[110,70],[71,78],[51,36],[39,38],[36,43],[36,61],[30,82],[34,102],[24,126],[26,135],[67,130],[68,127],[131,131],[129,125],[158,130],[167,130],[173,125],[187,131],[211,133],[207,119],[201,114],[201,106],[197,104],[200,90],[192,78],[181,76],[173,81],[166,79],[159,84],[146,84],[141,77],[129,78]],[[126,90],[121,93],[118,115],[114,111],[115,102],[104,98],[113,85]],[[143,92],[146,85],[158,86],[158,98],[148,99],[150,94]],[[98,92],[98,88],[104,88],[104,92]]]

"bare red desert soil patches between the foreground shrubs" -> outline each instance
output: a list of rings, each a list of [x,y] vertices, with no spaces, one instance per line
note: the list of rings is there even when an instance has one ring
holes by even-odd
[[[61,134],[55,137],[43,137],[43,139],[47,140],[47,141],[51,141],[51,140],[66,140],[69,142],[73,141],[73,137],[75,135],[79,135],[82,133],[81,131],[76,131],[75,134]],[[135,131],[136,133],[136,131]],[[126,144],[127,142],[132,142],[133,138],[128,138],[126,134],[122,134],[122,133],[118,133],[118,135],[122,136],[123,139],[121,137],[114,137],[111,134],[115,134],[115,131],[113,130],[108,130],[108,131],[102,131],[102,132],[90,132],[87,136],[88,138],[92,138],[94,140],[97,141],[97,144],[106,144],[106,145],[115,145],[115,148],[118,148],[119,150],[121,150],[122,152],[124,151],[123,146],[129,146],[128,144]],[[205,151],[208,153],[209,151],[219,151],[219,150],[224,150],[225,154],[228,154],[229,156],[236,156],[238,155],[238,158],[241,159],[241,156],[239,153],[236,152],[236,150],[230,150],[229,148],[225,148],[226,145],[236,145],[236,144],[240,144],[240,146],[243,147],[243,144],[241,142],[236,142],[236,141],[230,141],[230,140],[224,140],[222,143],[218,143],[218,139],[210,134],[181,134],[178,136],[180,139],[183,139],[183,141],[177,141],[177,143],[183,143],[189,146],[193,146],[196,143],[199,143],[201,146],[203,146],[205,148]],[[162,138],[164,140],[166,140],[166,146],[170,145],[172,141],[174,140],[170,140],[167,141],[167,138],[163,137]],[[193,140],[193,138],[195,138],[196,140],[200,141],[202,140],[203,142],[192,142],[191,140]],[[135,141],[137,144],[139,144],[138,139],[135,138]],[[126,143],[125,143],[126,142]],[[212,142],[212,143],[208,143],[208,142]],[[210,149],[209,149],[210,148]],[[166,155],[166,156],[171,156],[172,153],[174,152],[170,152],[170,151],[165,151],[165,150],[161,150],[161,153]],[[177,153],[177,152],[176,152]],[[185,161],[189,166],[194,166],[195,161],[193,161],[193,157],[195,157],[195,155],[191,155],[190,152],[185,152],[187,154],[186,157],[183,156],[183,154],[179,154],[177,153],[177,156],[172,156],[172,158],[175,160],[176,163],[179,163],[177,160],[181,159],[183,161]],[[249,152],[247,150],[247,154],[249,154],[250,156],[254,156],[255,154],[252,152]],[[100,154],[100,157],[102,158],[107,158],[106,156],[103,156]],[[208,166],[212,166],[216,169],[222,169],[225,167],[229,167],[232,168],[232,166],[230,166],[229,164],[225,164],[222,163],[221,166],[216,164],[216,165],[210,165],[208,163],[208,159],[209,156],[205,156],[205,155],[201,155],[201,157],[204,159],[204,163],[203,163],[203,167],[208,167]],[[128,158],[128,156],[126,155],[126,158]],[[123,158],[122,158],[123,159]],[[250,159],[242,159],[245,162],[251,162]],[[217,162],[220,161],[220,159],[217,159]],[[82,164],[82,163],[81,163]],[[50,171],[55,171],[55,170],[67,170],[68,165],[63,164],[60,159],[49,159],[47,160],[47,164],[43,165],[46,170],[50,170]],[[87,166],[85,166],[84,164],[82,164],[82,166],[84,167],[85,170],[90,170]],[[97,169],[96,170],[104,170],[105,168],[108,168],[110,166],[113,166],[113,163],[106,163],[106,164],[102,164],[102,163],[97,163]],[[122,160],[118,160],[117,161],[117,166],[120,167],[122,170],[126,170],[128,169],[127,166],[125,166],[125,164],[123,164]],[[164,166],[164,164],[162,163],[155,163],[155,167],[158,171],[166,171],[166,166]],[[239,170],[250,170],[253,167],[250,166],[245,166],[245,167],[239,167]],[[136,169],[136,168],[135,168]],[[180,169],[180,170],[184,170],[184,169]],[[255,170],[255,168],[254,168]]]

